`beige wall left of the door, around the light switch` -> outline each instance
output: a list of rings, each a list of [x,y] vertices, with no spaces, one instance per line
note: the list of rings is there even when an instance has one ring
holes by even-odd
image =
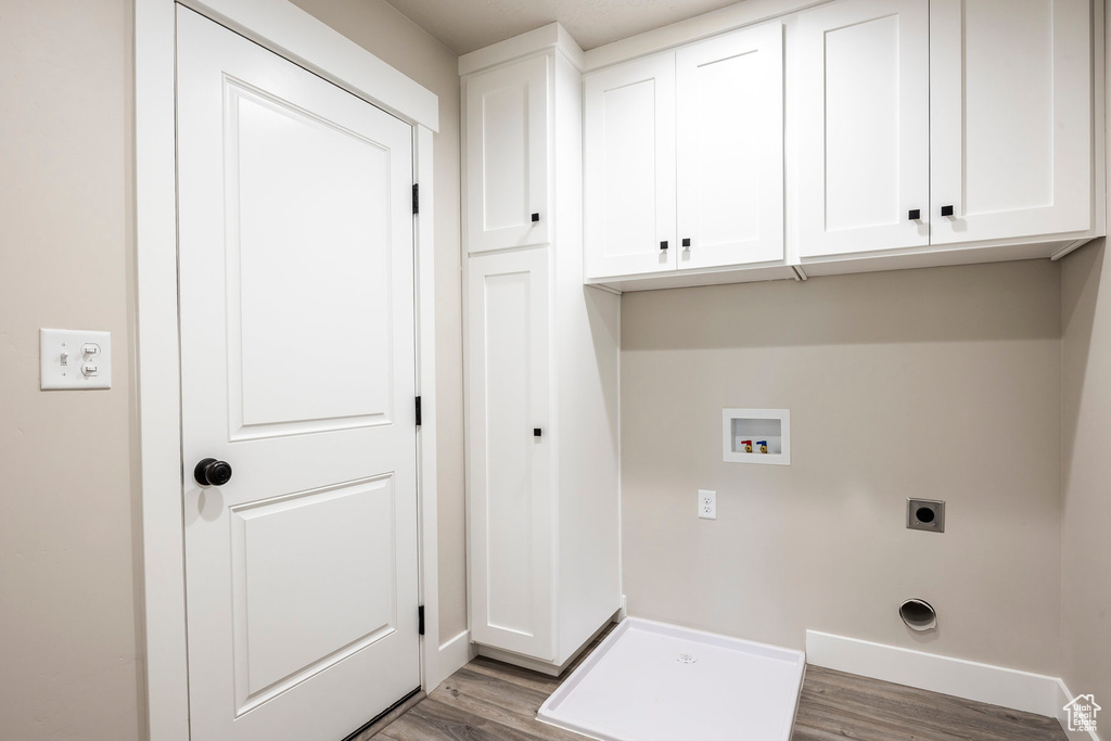
[[[127,256],[131,3],[0,3],[0,737],[140,735]],[[112,332],[39,391],[39,328]]]

